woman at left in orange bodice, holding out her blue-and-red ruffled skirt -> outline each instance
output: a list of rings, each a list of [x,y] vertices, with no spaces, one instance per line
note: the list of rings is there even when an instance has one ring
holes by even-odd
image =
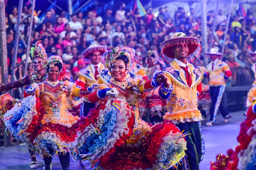
[[[68,170],[68,144],[74,141],[76,129],[83,118],[68,112],[67,96],[83,96],[88,91],[87,88],[76,88],[75,83],[58,81],[63,68],[60,56],[51,56],[46,66],[46,80],[29,86],[23,102],[7,111],[4,122],[14,136],[28,146],[36,147],[36,152],[43,153],[44,169],[51,169],[52,156],[56,151],[62,169]]]

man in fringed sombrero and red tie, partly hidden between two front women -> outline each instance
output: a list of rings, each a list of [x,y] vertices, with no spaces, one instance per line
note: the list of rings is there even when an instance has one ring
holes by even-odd
[[[84,61],[89,64],[79,71],[79,79],[76,81],[76,85],[81,88],[92,87],[93,84],[97,84],[97,75],[102,70],[105,70],[104,64],[100,62],[101,56],[107,51],[105,46],[98,46],[93,44],[89,46],[82,53]],[[86,116],[90,109],[95,107],[94,103],[88,101],[87,97],[84,97],[84,103],[81,107],[81,116]]]

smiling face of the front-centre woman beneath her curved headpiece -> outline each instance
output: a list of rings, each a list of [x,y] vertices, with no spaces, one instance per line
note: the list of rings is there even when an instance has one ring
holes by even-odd
[[[115,81],[124,82],[125,81],[125,76],[126,76],[126,73],[127,73],[124,60],[117,59],[116,62],[114,62],[111,65],[110,73],[111,73],[111,76],[114,78]]]

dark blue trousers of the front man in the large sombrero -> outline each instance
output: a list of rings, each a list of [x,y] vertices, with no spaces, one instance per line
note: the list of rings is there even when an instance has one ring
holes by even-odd
[[[191,133],[186,136],[187,150],[185,151],[188,156],[188,165],[190,170],[199,170],[199,162],[202,155],[202,138],[198,122],[185,122],[176,124],[176,126],[183,131],[183,133]],[[182,166],[178,166],[181,170]]]

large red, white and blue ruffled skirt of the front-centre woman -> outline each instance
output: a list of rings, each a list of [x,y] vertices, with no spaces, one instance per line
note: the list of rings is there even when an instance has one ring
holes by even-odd
[[[152,126],[140,137],[138,147],[126,143],[135,121],[124,99],[101,103],[89,117],[69,149],[75,160],[89,160],[94,168],[166,169],[185,156],[185,139],[170,121]]]

